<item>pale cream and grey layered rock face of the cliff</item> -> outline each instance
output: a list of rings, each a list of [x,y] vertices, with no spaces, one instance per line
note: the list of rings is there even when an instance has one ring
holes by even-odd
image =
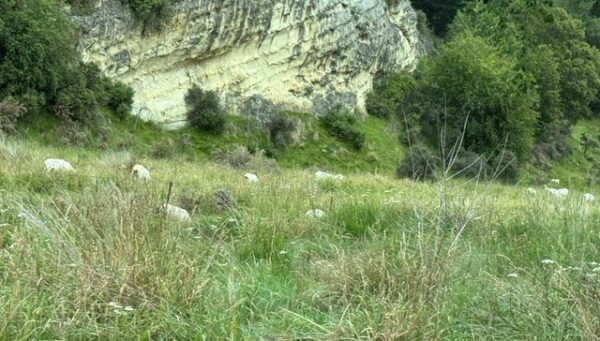
[[[390,3],[390,4],[388,4]],[[392,4],[395,3],[395,4]],[[290,110],[336,103],[364,111],[377,72],[412,68],[423,52],[408,0],[179,0],[161,33],[143,35],[120,0],[98,0],[78,50],[135,90],[134,115],[185,123],[196,83],[239,112],[248,98]]]

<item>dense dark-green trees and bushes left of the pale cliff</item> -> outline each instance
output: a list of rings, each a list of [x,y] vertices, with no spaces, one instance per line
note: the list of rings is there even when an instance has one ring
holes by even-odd
[[[14,96],[29,113],[53,112],[70,127],[98,124],[99,106],[125,116],[133,91],[79,63],[75,38],[60,1],[0,3],[0,98]]]

